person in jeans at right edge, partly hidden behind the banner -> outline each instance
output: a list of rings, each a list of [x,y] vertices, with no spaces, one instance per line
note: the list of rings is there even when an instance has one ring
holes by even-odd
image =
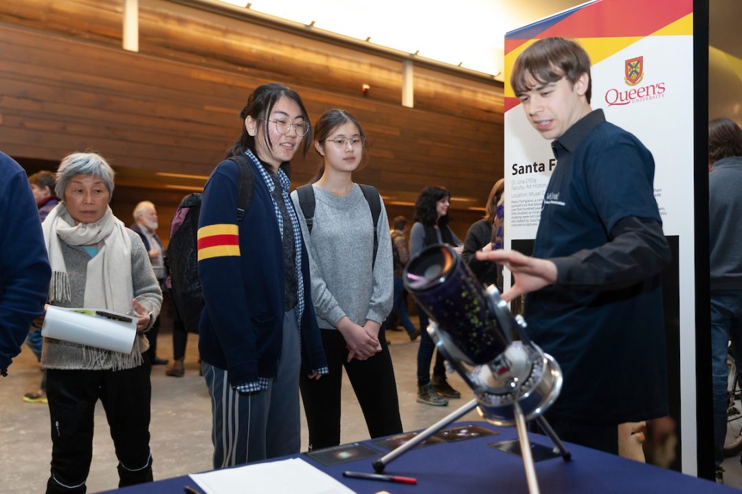
[[[709,122],[709,253],[716,475],[723,480],[727,419],[727,347],[742,364],[742,130],[730,119]]]

